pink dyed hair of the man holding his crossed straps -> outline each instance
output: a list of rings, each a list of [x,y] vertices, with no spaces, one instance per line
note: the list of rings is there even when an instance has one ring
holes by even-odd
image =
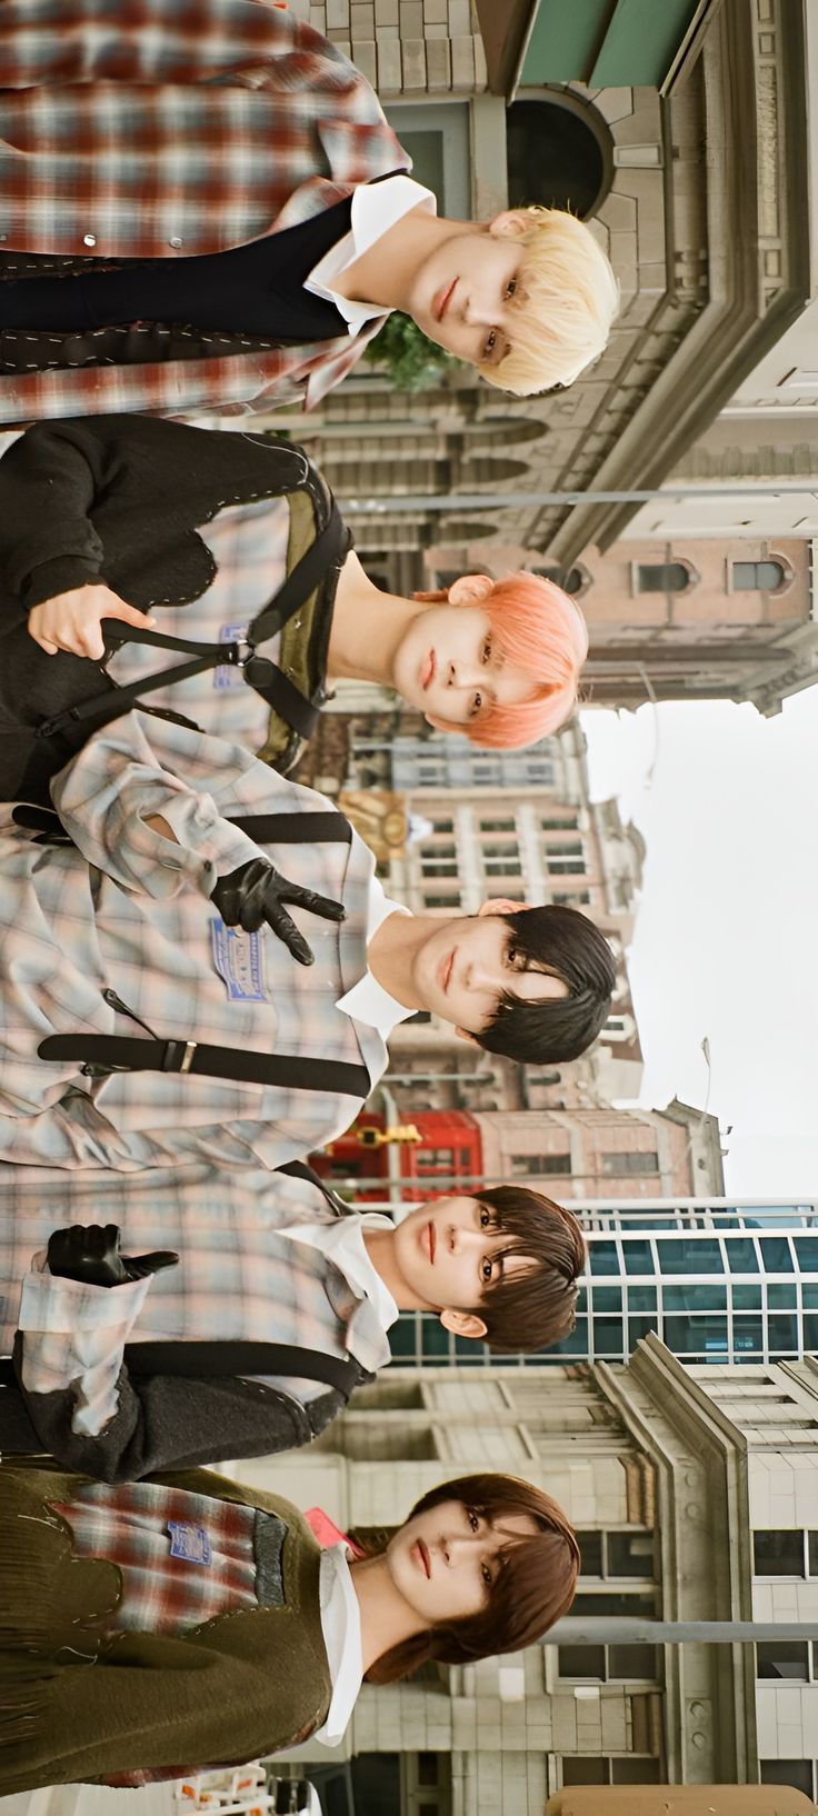
[[[473,745],[487,750],[522,750],[558,732],[576,706],[580,668],[587,656],[585,619],[569,594],[540,574],[498,579],[480,605],[500,654],[527,670],[534,694],[518,706],[494,706],[464,730]]]

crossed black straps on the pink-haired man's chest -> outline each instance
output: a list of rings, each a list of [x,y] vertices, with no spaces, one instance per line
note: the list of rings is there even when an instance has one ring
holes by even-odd
[[[113,656],[115,650],[122,648],[124,643],[149,643],[160,650],[182,650],[191,652],[193,659],[187,663],[178,663],[176,668],[162,668],[153,676],[145,676],[142,681],[129,681],[125,686],[107,690],[105,694],[96,694],[95,699],[84,699],[76,706],[69,706],[65,712],[58,712],[53,719],[44,719],[36,726],[36,737],[55,737],[55,734],[67,730],[71,725],[87,725],[89,732],[98,732],[104,725],[111,725],[113,719],[120,719],[122,714],[131,712],[131,706],[142,699],[144,694],[155,694],[160,686],[173,686],[176,681],[187,681],[191,676],[202,674],[205,668],[218,668],[220,665],[233,665],[244,670],[247,685],[254,688],[262,699],[267,699],[276,712],[302,737],[309,737],[314,730],[316,710],[304,699],[304,694],[280,674],[274,663],[264,656],[256,656],[256,643],[264,643],[267,637],[282,630],[284,625],[293,617],[293,612],[309,599],[314,592],[318,581],[324,579],[333,563],[340,559],[349,548],[349,530],[338,512],[333,499],[329,519],[318,536],[304,552],[302,559],[296,561],[287,579],[282,583],[278,592],[269,599],[258,617],[253,619],[247,630],[247,643],[193,643],[185,637],[169,637],[162,630],[147,630],[142,625],[124,627],[116,617],[102,619],[102,632],[105,637],[105,654]],[[253,677],[253,672],[256,679]],[[269,690],[269,692],[267,692]],[[302,725],[296,725],[289,717],[289,710],[294,708]],[[309,730],[302,730],[307,726]]]

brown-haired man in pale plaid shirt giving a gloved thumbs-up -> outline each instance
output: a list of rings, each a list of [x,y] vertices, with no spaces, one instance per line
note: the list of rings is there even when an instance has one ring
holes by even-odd
[[[238,1340],[351,1357],[367,1378],[389,1362],[398,1311],[436,1313],[453,1335],[498,1351],[544,1349],[573,1329],[585,1248],[551,1199],[494,1186],[418,1204],[393,1224],[351,1211],[307,1173],[15,1168],[0,1184],[0,1353],[15,1344],[16,1369],[16,1386],[0,1389],[4,1453],[47,1449],[111,1482],[324,1431],[342,1393],[282,1378],[273,1360],[249,1375]],[[65,1222],[104,1222],[55,1231],[55,1202]],[[136,1253],[156,1244],[175,1244],[178,1266]],[[156,1340],[164,1355],[145,1373],[127,1346]],[[224,1373],[169,1373],[191,1340],[207,1342]]]

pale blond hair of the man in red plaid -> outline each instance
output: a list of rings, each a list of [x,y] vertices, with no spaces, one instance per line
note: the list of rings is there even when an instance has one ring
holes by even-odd
[[[620,287],[589,227],[567,209],[513,209],[520,281],[514,331],[498,365],[480,365],[500,390],[529,398],[551,385],[573,385],[596,360],[620,307]]]

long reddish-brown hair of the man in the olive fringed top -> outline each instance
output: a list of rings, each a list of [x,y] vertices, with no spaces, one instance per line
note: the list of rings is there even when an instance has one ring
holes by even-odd
[[[529,1513],[540,1531],[531,1538],[513,1538],[504,1547],[491,1600],[478,1614],[431,1627],[393,1645],[371,1665],[367,1683],[394,1683],[429,1660],[462,1665],[494,1653],[516,1653],[522,1645],[542,1640],[574,1600],[580,1545],[551,1495],[520,1476],[458,1476],[454,1482],[440,1482],[414,1502],[409,1520],[444,1500],[460,1500],[489,1520]]]

